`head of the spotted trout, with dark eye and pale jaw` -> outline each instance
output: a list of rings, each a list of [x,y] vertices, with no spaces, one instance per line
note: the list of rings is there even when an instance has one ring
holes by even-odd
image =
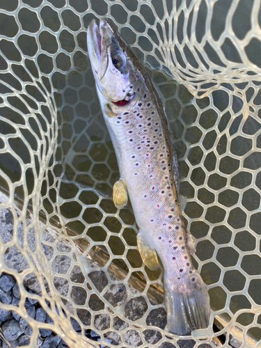
[[[139,94],[141,63],[107,19],[87,31],[88,54],[97,88],[113,106],[129,105]],[[136,98],[135,98],[136,99]]]

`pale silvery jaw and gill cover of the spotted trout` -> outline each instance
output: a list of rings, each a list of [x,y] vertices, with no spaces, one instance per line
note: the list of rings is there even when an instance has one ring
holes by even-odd
[[[108,102],[125,106],[132,100],[129,72],[120,72],[112,62],[116,36],[109,23],[102,19],[97,26],[95,19],[87,31],[88,54],[97,88]],[[127,55],[126,55],[127,58]]]

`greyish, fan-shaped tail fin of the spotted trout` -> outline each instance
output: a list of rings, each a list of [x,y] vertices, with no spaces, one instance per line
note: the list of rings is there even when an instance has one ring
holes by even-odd
[[[209,326],[209,295],[200,280],[193,287],[193,292],[177,294],[164,283],[165,303],[168,315],[168,330],[176,335],[186,335],[196,329]]]

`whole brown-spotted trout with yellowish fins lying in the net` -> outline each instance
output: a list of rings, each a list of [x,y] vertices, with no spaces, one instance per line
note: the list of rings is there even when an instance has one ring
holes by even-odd
[[[148,72],[108,19],[93,19],[87,46],[97,95],[118,161],[113,185],[118,209],[132,204],[137,246],[152,270],[164,267],[168,331],[187,335],[209,327],[209,295],[191,255],[195,244],[177,197],[177,156],[164,107]]]

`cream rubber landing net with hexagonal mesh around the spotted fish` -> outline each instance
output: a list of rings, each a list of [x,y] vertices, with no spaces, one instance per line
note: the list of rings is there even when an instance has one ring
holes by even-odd
[[[229,333],[258,347],[260,1],[2,0],[0,8],[0,183],[8,197],[0,266],[21,293],[1,308],[30,324],[30,347],[44,329],[70,347],[186,344],[165,328],[163,269],[144,266],[132,209],[117,211],[111,198],[118,166],[86,54],[86,28],[104,15],[150,65],[164,102],[197,242],[193,262],[209,291],[214,336],[226,335],[219,347]],[[29,299],[48,320],[27,315]]]

